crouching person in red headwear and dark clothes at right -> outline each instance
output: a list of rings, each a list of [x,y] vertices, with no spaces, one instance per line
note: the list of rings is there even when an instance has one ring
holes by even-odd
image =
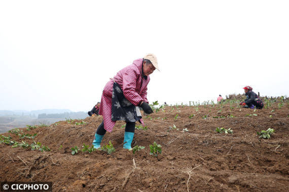
[[[253,88],[250,86],[245,86],[243,89],[247,98],[245,99],[245,102],[241,102],[240,105],[242,105],[244,108],[254,109],[254,107],[256,107],[257,109],[262,109],[264,104],[259,98],[258,94],[252,91]]]

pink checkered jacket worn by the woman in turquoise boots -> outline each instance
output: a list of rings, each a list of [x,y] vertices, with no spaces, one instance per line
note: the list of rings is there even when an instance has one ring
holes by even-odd
[[[114,79],[106,83],[100,102],[99,115],[103,116],[104,129],[112,132],[115,121],[112,121],[112,92],[114,81],[123,90],[124,97],[133,105],[138,106],[142,101],[148,102],[147,90],[150,77],[142,77],[142,59],[134,60],[133,63],[120,70]]]

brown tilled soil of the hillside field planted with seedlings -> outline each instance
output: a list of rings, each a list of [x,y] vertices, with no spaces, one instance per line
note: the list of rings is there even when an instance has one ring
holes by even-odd
[[[227,104],[219,110],[218,105],[199,106],[198,112],[195,107],[167,106],[143,118],[149,130],[136,130],[132,146],[146,148],[134,155],[122,149],[124,122],[117,122],[113,132],[103,137],[102,145],[112,140],[116,148],[111,155],[102,151],[71,155],[70,148],[91,145],[102,117],[86,118],[87,125],[76,125],[82,121],[77,120],[30,131],[23,128],[25,133],[37,133],[33,140],[51,151],[1,143],[0,180],[52,181],[54,191],[288,191],[288,104],[256,112],[230,109]],[[253,113],[258,116],[246,116]],[[189,118],[191,114],[195,116]],[[203,119],[204,115],[208,118]],[[226,118],[213,118],[222,115]],[[169,130],[173,124],[179,130]],[[231,128],[234,133],[216,133],[216,127]],[[256,132],[269,127],[276,130],[271,139],[258,139]],[[189,131],[183,132],[185,128]],[[21,141],[15,134],[3,135]],[[154,141],[162,146],[158,157],[150,155]]]

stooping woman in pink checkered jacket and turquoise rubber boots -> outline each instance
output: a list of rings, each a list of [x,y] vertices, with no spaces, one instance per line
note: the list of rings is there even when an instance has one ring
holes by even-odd
[[[100,148],[100,142],[106,131],[112,132],[116,121],[126,121],[124,133],[124,149],[131,149],[135,122],[140,121],[139,107],[147,114],[153,113],[147,100],[147,86],[150,74],[158,69],[157,58],[149,54],[122,70],[106,83],[102,95],[99,115],[103,116],[93,139],[93,147]],[[159,70],[159,69],[158,69]]]

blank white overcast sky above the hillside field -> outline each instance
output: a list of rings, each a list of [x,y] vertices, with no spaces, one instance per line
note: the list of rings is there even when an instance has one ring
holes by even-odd
[[[89,111],[147,53],[150,102],[289,95],[289,1],[1,1],[0,110]]]

